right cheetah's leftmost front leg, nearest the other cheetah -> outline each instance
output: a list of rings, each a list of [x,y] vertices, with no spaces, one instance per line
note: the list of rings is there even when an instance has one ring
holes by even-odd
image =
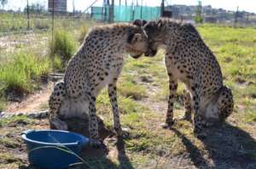
[[[177,79],[172,76],[172,73],[168,72],[169,76],[169,99],[168,99],[168,109],[166,112],[166,123],[162,124],[163,128],[172,127],[173,121],[173,104],[175,101],[175,95],[177,93]]]

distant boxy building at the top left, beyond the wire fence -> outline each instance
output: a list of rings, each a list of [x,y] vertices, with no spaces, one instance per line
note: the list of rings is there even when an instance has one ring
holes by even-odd
[[[48,11],[55,13],[67,13],[67,0],[48,0]]]

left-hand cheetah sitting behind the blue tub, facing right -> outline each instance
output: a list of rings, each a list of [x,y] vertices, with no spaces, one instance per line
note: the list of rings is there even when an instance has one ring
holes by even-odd
[[[51,128],[67,130],[67,118],[89,117],[90,144],[101,146],[96,121],[96,96],[108,86],[113,110],[113,128],[122,135],[116,83],[125,54],[137,59],[148,50],[142,27],[119,23],[99,25],[90,30],[79,50],[68,62],[63,81],[57,82],[49,97]]]

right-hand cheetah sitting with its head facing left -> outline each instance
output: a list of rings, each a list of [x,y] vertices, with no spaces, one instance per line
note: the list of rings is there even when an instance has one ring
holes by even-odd
[[[183,118],[189,120],[193,110],[194,133],[198,138],[205,138],[202,127],[213,121],[224,121],[234,107],[231,90],[223,84],[218,60],[191,24],[160,19],[148,22],[143,29],[148,35],[146,56],[154,56],[158,48],[165,49],[170,94],[163,127],[171,127],[174,123],[173,103],[177,81],[180,81],[188,91],[184,97]]]

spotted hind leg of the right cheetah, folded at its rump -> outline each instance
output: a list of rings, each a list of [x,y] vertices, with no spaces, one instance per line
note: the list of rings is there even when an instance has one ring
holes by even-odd
[[[218,97],[218,119],[225,121],[234,109],[234,100],[231,89],[222,87]]]

